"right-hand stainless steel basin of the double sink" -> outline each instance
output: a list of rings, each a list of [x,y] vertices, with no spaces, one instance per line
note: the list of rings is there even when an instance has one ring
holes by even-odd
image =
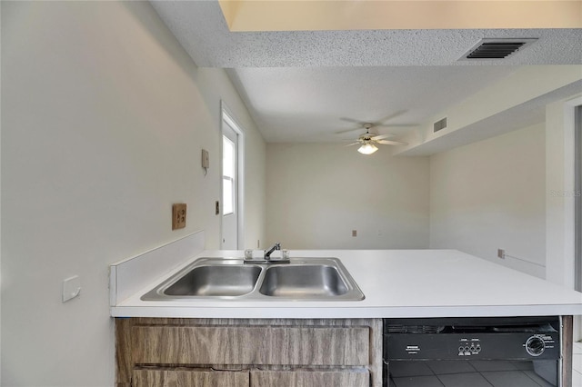
[[[347,293],[337,269],[327,265],[289,265],[266,269],[259,292],[274,297],[334,297]]]

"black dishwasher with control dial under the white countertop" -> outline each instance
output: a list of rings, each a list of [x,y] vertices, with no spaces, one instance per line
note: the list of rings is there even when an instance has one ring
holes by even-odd
[[[559,386],[556,316],[384,319],[385,387]]]

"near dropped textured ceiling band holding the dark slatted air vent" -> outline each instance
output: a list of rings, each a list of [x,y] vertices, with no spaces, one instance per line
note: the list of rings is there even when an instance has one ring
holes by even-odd
[[[484,37],[539,38],[527,51],[487,65],[574,65],[582,61],[579,29],[232,33],[216,1],[152,4],[200,67],[472,65],[457,60]]]

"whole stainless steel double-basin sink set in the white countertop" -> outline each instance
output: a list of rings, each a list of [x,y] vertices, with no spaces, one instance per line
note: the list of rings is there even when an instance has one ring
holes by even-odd
[[[291,258],[288,263],[199,258],[141,299],[359,301],[364,293],[337,258]]]

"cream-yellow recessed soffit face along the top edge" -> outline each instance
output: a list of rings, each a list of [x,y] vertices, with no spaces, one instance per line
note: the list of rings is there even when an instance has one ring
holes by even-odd
[[[231,32],[581,28],[568,0],[219,0]]]

